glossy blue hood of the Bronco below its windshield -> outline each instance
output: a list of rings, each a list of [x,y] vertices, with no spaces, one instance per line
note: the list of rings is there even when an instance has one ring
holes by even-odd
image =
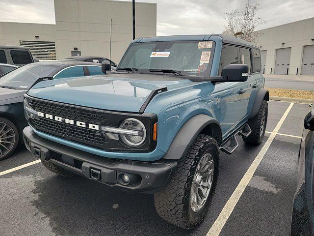
[[[117,73],[44,81],[27,94],[78,106],[138,112],[153,90],[167,87],[169,91],[193,83],[178,76]]]

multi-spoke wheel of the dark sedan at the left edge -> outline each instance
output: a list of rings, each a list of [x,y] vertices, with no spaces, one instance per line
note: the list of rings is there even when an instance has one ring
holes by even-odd
[[[15,124],[0,117],[0,161],[9,157],[19,143],[19,131]]]

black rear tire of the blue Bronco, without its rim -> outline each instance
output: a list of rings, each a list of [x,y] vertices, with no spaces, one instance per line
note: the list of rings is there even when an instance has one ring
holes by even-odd
[[[260,135],[260,127],[261,127],[261,120],[262,114],[265,111],[265,123],[262,135]],[[267,115],[268,115],[268,103],[267,101],[263,100],[259,112],[256,116],[252,119],[248,120],[248,125],[250,126],[252,133],[248,137],[242,137],[243,141],[247,144],[251,145],[260,145],[264,138],[266,124],[267,124]]]

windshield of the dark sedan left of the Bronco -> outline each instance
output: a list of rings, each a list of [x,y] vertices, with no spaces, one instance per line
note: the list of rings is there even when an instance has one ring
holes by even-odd
[[[32,63],[17,68],[0,78],[0,86],[28,89],[38,78],[49,76],[59,66]]]

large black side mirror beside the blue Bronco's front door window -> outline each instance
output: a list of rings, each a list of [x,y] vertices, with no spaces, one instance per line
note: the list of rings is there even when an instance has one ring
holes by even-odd
[[[228,82],[245,82],[249,76],[247,64],[230,64],[222,68],[221,76],[226,77]]]

